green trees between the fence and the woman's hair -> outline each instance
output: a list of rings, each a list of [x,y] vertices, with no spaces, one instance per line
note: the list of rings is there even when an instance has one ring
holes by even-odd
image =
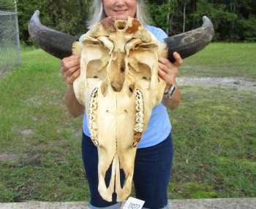
[[[31,42],[29,38],[28,25],[31,15],[35,10],[40,11],[41,23],[57,31],[80,36],[86,32],[86,20],[89,15],[91,1],[18,1],[18,19],[20,27],[20,39]]]

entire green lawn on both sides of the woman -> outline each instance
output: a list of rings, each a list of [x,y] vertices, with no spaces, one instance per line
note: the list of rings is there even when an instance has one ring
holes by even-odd
[[[184,60],[179,76],[256,80],[256,44],[214,43]],[[60,60],[23,49],[0,77],[0,202],[89,200],[80,154],[82,117],[64,106]],[[175,158],[169,198],[256,197],[256,97],[181,86],[170,111]]]

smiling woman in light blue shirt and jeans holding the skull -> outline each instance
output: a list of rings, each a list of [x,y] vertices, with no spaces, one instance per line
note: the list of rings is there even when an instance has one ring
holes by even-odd
[[[144,27],[162,42],[167,37],[164,31],[147,24],[145,5],[143,0],[94,0],[94,15],[89,22],[89,28],[104,17],[116,16],[117,20],[127,20],[135,17],[143,23]],[[170,181],[170,170],[173,160],[173,143],[171,138],[170,119],[168,109],[175,109],[181,100],[181,92],[176,87],[176,75],[182,59],[177,52],[173,57],[174,63],[166,58],[159,57],[158,74],[166,82],[165,95],[162,103],[156,106],[151,114],[146,132],[143,134],[135,157],[135,170],[133,181],[136,197],[144,200],[144,208],[167,208],[167,186]],[[73,82],[80,75],[80,60],[77,56],[70,56],[61,60],[61,74],[69,84],[65,95],[65,104],[73,117],[84,114],[84,106],[78,103],[73,90]],[[175,88],[176,87],[176,88]],[[86,116],[83,119],[82,154],[86,176],[89,181],[91,200],[89,208],[120,208],[121,203],[106,202],[100,197],[97,174],[97,147],[92,143],[87,127]],[[106,174],[106,178],[110,173]],[[108,180],[107,180],[108,181]]]

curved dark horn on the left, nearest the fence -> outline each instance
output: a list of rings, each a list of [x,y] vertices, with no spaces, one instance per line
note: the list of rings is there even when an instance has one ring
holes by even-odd
[[[38,10],[34,12],[29,22],[29,35],[42,50],[59,59],[72,55],[72,43],[78,40],[78,37],[42,25]]]

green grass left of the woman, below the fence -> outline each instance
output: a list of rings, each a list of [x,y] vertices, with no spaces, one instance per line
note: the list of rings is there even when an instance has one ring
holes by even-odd
[[[17,156],[0,162],[0,201],[83,200],[82,118],[64,106],[60,61],[42,50],[25,50],[22,60],[0,80],[0,154]]]

